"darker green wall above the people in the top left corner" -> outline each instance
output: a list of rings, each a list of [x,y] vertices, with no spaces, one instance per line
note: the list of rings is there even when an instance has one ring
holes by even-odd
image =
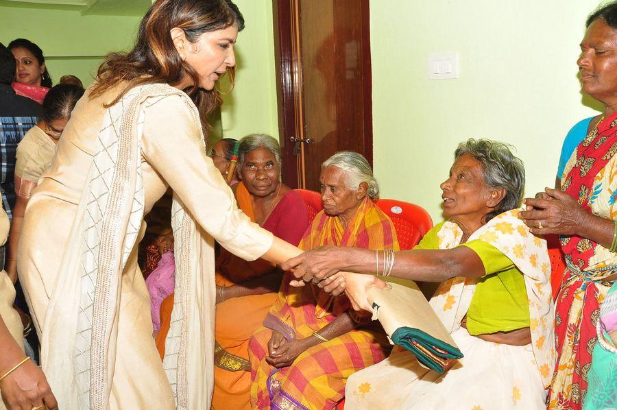
[[[132,45],[140,20],[134,16],[21,8],[4,2],[0,3],[0,42],[8,45],[14,38],[28,38],[43,49],[54,82],[64,74],[73,74],[88,85],[102,56]]]

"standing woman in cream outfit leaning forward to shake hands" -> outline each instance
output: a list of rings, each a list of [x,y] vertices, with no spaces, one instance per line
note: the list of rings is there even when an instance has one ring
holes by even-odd
[[[62,409],[208,409],[214,239],[247,260],[299,253],[238,210],[206,156],[203,119],[243,25],[230,0],[156,1],[132,51],[101,64],[32,193],[18,272]],[[176,298],[161,365],[136,244],[168,187]]]

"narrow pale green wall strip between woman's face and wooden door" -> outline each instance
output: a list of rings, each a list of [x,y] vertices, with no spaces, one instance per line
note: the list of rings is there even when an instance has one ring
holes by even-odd
[[[271,0],[235,0],[246,27],[239,34],[235,88],[223,97],[223,136],[265,133],[278,138]],[[221,85],[221,89],[229,89]]]

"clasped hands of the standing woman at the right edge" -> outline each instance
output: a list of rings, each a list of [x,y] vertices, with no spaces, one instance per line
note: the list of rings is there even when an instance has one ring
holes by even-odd
[[[546,188],[535,198],[525,198],[523,203],[527,210],[520,217],[536,235],[577,234],[590,215],[573,197],[559,189]]]

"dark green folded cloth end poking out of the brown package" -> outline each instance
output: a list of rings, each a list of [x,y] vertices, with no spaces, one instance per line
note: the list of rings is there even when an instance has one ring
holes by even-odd
[[[420,363],[439,374],[446,371],[450,359],[457,360],[463,357],[461,350],[455,346],[435,339],[419,329],[398,328],[390,338],[394,343],[415,354]]]

